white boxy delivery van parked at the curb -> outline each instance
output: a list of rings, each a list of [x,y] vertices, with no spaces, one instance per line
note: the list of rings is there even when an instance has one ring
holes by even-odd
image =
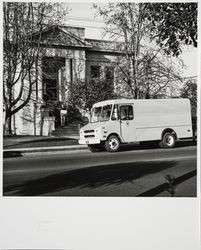
[[[80,129],[80,144],[92,152],[103,147],[116,152],[123,143],[159,142],[172,148],[176,140],[192,137],[188,99],[119,99],[93,105],[89,124]]]

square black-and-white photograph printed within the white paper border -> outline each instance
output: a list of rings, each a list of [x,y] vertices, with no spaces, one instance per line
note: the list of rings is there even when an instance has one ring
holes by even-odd
[[[197,197],[197,18],[4,2],[3,196]]]

